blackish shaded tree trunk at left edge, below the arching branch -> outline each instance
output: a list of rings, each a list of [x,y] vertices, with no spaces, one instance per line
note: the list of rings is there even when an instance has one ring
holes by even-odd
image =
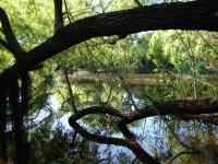
[[[11,69],[1,73],[0,81],[0,160],[8,159],[7,143],[12,138],[14,143],[13,160],[15,164],[28,163],[29,145],[26,141],[24,129],[24,116],[27,113],[28,103],[28,74],[25,73],[21,80],[22,86],[20,89],[17,83],[16,72]],[[7,115],[12,115],[12,129],[7,130]],[[11,130],[11,131],[9,131]],[[11,134],[12,136],[11,136]],[[8,136],[8,137],[7,137]]]

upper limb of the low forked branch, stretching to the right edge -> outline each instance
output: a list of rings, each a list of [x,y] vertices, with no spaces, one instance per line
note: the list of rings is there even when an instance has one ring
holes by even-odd
[[[218,102],[213,102],[214,98],[194,99],[194,101],[175,101],[166,103],[156,103],[152,106],[138,108],[138,110],[124,110],[116,109],[108,106],[92,106],[78,110],[76,115],[69,118],[69,122],[81,119],[82,117],[90,114],[108,114],[121,118],[119,124],[128,125],[135,120],[170,114],[213,114],[217,113]]]

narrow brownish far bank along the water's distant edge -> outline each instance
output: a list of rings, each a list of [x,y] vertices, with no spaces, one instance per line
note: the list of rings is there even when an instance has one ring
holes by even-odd
[[[65,78],[61,71],[59,71],[58,77],[60,81],[64,82]],[[113,73],[92,73],[89,71],[76,71],[75,73],[69,74],[70,82],[106,82],[106,81],[124,81],[126,84],[131,85],[164,85],[168,80],[168,75],[164,77],[160,74],[130,74],[130,75],[121,75],[121,74],[113,74]],[[186,80],[192,81],[193,78],[190,74],[183,75],[173,75],[175,80]],[[173,80],[172,80],[173,81]],[[202,78],[198,79],[199,82],[204,82],[210,86],[218,86],[218,75],[217,74],[202,74]]]

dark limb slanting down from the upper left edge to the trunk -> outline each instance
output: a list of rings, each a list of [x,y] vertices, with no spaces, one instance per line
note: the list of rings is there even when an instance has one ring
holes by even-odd
[[[12,31],[7,13],[1,7],[0,7],[0,21],[7,39],[7,42],[3,42],[3,39],[1,38],[0,43],[14,55],[16,60],[19,60],[24,54],[24,51]]]

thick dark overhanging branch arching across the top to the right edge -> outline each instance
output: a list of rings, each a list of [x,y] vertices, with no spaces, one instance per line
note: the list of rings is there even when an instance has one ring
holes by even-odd
[[[22,70],[93,37],[157,30],[218,31],[218,1],[177,2],[85,17],[63,27],[22,60]],[[21,70],[21,71],[22,71]]]

